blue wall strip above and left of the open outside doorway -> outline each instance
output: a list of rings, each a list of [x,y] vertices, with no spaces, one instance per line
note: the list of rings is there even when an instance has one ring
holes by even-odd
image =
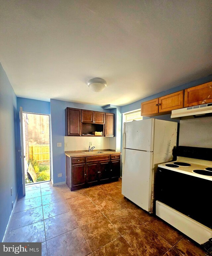
[[[24,112],[50,115],[50,102],[32,100],[26,98],[17,97],[17,147],[21,149],[21,138],[20,138],[20,118],[19,110],[20,107],[23,108]],[[21,167],[21,152],[18,153],[16,169],[17,169],[17,184],[22,186],[22,167]]]

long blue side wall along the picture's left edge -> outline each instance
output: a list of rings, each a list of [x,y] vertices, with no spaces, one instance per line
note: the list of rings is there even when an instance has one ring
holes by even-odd
[[[17,196],[16,183],[17,101],[13,88],[0,63],[0,241]],[[11,196],[11,188],[13,195]]]

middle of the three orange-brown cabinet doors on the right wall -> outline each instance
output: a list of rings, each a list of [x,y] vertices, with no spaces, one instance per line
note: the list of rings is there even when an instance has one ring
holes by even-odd
[[[175,92],[159,98],[159,113],[183,108],[184,91]]]

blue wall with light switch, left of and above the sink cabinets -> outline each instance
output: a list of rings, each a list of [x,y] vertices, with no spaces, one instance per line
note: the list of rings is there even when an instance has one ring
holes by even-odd
[[[93,111],[109,112],[102,107],[79,104],[60,100],[50,100],[51,105],[51,128],[52,128],[52,165],[53,165],[53,183],[65,182],[65,154],[64,154],[64,136],[65,136],[65,109],[78,108]],[[62,147],[57,147],[57,142],[62,142]],[[62,173],[62,177],[57,177]]]

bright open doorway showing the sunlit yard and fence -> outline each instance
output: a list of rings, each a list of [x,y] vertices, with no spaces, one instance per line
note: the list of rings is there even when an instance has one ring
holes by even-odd
[[[50,181],[49,115],[23,113],[25,185]]]

